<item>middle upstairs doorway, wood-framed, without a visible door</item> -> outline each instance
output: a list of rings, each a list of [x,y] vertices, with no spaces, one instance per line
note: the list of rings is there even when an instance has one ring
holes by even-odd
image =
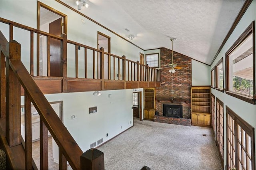
[[[100,49],[101,47],[104,48],[104,52],[110,53],[110,37],[105,34],[102,34],[101,32],[98,32],[98,49]],[[108,55],[107,54],[104,55],[104,79],[110,79],[108,75]]]

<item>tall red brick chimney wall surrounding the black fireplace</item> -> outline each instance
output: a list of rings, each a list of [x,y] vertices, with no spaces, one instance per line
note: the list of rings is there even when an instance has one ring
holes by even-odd
[[[161,87],[156,88],[156,98],[174,98],[174,102],[168,100],[156,101],[156,111],[159,115],[162,113],[162,105],[183,105],[183,118],[189,118],[189,109],[191,108],[190,101],[175,101],[175,99],[191,99],[191,85],[192,85],[192,72],[191,72],[191,58],[180,53],[173,51],[173,61],[177,65],[188,65],[182,69],[176,69],[175,73],[169,73],[170,68],[161,69],[160,79]],[[160,65],[168,65],[172,62],[172,50],[161,48],[160,49]]]

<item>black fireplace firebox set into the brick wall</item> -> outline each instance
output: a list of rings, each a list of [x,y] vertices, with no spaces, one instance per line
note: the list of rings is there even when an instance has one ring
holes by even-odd
[[[163,116],[182,118],[182,105],[165,105],[163,104]]]

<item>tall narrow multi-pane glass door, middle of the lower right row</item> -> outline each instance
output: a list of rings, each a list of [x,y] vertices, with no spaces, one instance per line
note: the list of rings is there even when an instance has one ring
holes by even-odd
[[[224,136],[223,136],[223,133],[224,133],[224,128],[223,128],[223,112],[224,112],[224,109],[223,109],[223,102],[220,101],[220,99],[218,99],[216,97],[216,141],[217,141],[217,146],[218,146],[218,149],[220,151],[220,157],[221,157],[221,162],[222,162],[222,165],[223,165],[223,162],[224,162]]]

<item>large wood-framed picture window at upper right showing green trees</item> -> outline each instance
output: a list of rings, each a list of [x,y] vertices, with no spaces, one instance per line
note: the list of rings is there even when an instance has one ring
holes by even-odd
[[[226,52],[227,94],[255,104],[254,22]]]

